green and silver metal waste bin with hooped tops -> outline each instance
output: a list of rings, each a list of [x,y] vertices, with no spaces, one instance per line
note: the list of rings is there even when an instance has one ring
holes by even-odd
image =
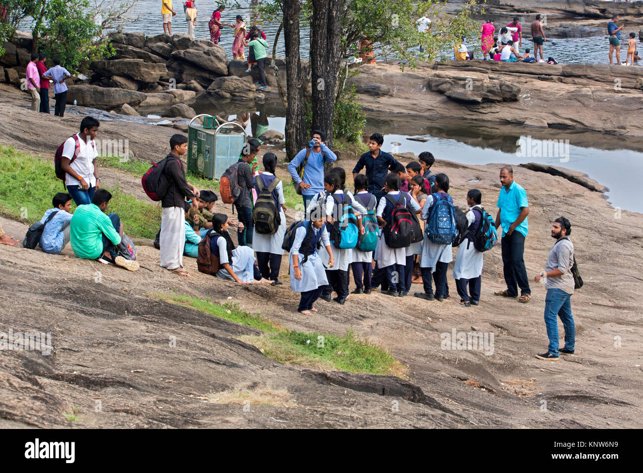
[[[188,171],[221,178],[239,160],[245,142],[246,130],[237,122],[219,124],[215,116],[195,116],[188,124]]]

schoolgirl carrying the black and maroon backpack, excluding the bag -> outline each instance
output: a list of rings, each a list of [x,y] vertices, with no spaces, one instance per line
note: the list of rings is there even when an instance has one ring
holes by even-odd
[[[390,173],[386,176],[384,189],[386,192],[385,198],[379,199],[377,205],[377,221],[382,225],[383,229],[386,225],[390,224],[390,219],[398,203],[401,205],[408,205],[413,212],[419,212],[421,207],[417,201],[408,194],[408,192],[400,192],[400,179],[397,174]],[[395,203],[392,203],[393,200]],[[404,297],[408,295],[409,287],[406,287],[406,270],[407,270],[407,250],[408,248],[391,248],[386,245],[384,231],[379,236],[377,243],[377,263],[373,274],[372,284],[373,287],[379,286],[386,279],[388,283],[388,290],[382,290],[381,293],[393,297]],[[412,271],[412,264],[408,266],[408,271]]]

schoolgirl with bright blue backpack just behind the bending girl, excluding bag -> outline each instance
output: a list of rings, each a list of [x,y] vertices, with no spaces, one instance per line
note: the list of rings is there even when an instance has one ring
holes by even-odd
[[[324,178],[324,189],[327,192],[325,199],[325,212],[327,225],[331,227],[335,221],[339,221],[343,215],[343,201],[346,205],[351,205],[356,216],[358,231],[363,232],[361,226],[361,216],[367,213],[367,210],[353,197],[350,190],[344,190],[346,172],[341,167],[334,167],[331,173]],[[349,296],[349,264],[352,263],[353,248],[335,248],[334,255],[336,264],[326,270],[326,277],[329,284],[324,288],[321,298],[330,301],[331,292],[337,293],[333,301],[338,304],[344,304]],[[327,256],[330,257],[330,254]],[[326,257],[323,257],[326,263]]]

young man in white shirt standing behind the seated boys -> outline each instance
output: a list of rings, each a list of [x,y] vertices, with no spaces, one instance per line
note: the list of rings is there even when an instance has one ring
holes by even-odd
[[[94,142],[99,125],[96,118],[86,116],[80,122],[80,133],[68,138],[62,149],[60,167],[66,172],[65,185],[77,206],[90,204],[95,190],[100,189]]]

